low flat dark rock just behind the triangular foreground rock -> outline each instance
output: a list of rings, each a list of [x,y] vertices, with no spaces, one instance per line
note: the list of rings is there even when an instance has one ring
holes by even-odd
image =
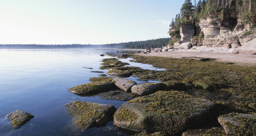
[[[101,99],[107,100],[119,100],[119,101],[129,101],[136,97],[136,95],[127,93],[123,90],[116,90],[116,91],[109,91],[109,92],[102,92],[99,94]]]

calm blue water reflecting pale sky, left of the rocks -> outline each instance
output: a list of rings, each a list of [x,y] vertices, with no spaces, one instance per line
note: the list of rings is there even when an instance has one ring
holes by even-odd
[[[0,136],[128,135],[115,128],[113,121],[100,128],[76,129],[64,106],[75,100],[111,104],[116,108],[125,103],[102,100],[98,96],[80,97],[67,91],[99,76],[99,73],[90,71],[107,72],[99,69],[100,60],[109,58],[99,54],[106,52],[116,51],[0,49]],[[138,63],[132,63],[132,66],[152,68]],[[4,117],[16,109],[26,111],[34,118],[13,130]]]

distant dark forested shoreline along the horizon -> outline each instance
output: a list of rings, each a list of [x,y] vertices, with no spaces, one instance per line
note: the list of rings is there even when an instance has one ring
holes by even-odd
[[[37,44],[2,44],[0,49],[52,49],[52,48],[93,48],[93,49],[146,49],[146,48],[162,48],[166,46],[170,38],[158,38],[145,41],[131,41],[118,44],[104,44],[104,45],[84,45],[84,44],[68,44],[68,45],[37,45]]]

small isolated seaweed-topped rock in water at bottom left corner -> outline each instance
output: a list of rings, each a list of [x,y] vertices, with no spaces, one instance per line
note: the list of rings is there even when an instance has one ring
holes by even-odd
[[[13,125],[14,129],[18,129],[20,126],[27,123],[34,116],[27,112],[16,110],[14,112],[9,113],[5,117],[11,121],[11,124]]]

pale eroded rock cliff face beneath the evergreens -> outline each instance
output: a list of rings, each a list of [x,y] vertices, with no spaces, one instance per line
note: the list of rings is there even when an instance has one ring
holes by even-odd
[[[192,46],[236,48],[233,53],[256,54],[256,28],[243,24],[241,20],[218,21],[210,16],[201,19],[197,28],[194,26],[180,27],[181,40],[174,44],[179,49],[182,43],[190,42]],[[195,39],[195,35],[204,38]],[[246,51],[245,51],[246,50]]]

